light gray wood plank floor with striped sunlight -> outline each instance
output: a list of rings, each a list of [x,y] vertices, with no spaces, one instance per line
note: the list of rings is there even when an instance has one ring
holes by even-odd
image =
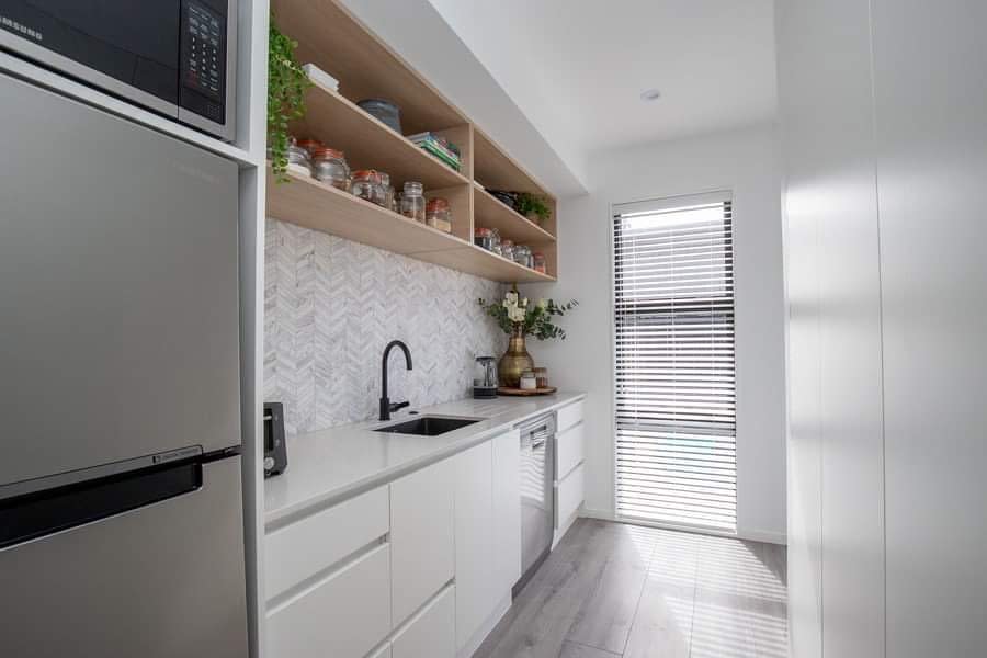
[[[784,658],[783,546],[580,519],[474,658]]]

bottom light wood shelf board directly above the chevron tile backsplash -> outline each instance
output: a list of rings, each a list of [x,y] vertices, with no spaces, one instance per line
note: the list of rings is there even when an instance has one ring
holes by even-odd
[[[266,215],[417,260],[506,283],[555,281],[453,235],[304,174],[276,183],[268,169]]]

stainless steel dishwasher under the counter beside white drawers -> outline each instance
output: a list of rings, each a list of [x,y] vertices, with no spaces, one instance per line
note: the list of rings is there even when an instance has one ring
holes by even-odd
[[[555,412],[520,426],[521,579],[517,595],[552,549],[555,532]]]

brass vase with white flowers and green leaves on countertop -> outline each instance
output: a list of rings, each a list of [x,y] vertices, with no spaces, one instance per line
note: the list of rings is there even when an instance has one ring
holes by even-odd
[[[527,353],[524,339],[534,336],[538,340],[565,340],[565,329],[558,327],[553,318],[566,315],[579,302],[570,299],[558,304],[554,299],[540,299],[537,304],[531,304],[527,297],[521,297],[515,286],[507,292],[501,302],[479,299],[479,305],[511,337],[507,352],[497,364],[497,375],[501,386],[518,388],[521,373],[534,367],[534,360]]]

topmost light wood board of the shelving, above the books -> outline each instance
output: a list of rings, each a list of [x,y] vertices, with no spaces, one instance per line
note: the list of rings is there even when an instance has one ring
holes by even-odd
[[[384,98],[401,109],[406,135],[468,123],[400,56],[334,0],[272,0],[274,21],[298,42],[302,64],[313,63],[339,80],[353,101]]]

